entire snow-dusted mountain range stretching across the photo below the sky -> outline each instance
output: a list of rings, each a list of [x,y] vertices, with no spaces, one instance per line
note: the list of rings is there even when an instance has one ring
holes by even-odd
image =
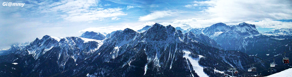
[[[0,76],[221,77],[224,71],[231,74],[227,69],[232,66],[247,73],[244,66],[290,50],[292,44],[289,38],[262,35],[248,23],[182,30],[156,23],[138,31],[46,35],[5,51],[9,55],[0,56]],[[254,66],[263,70],[269,63]]]

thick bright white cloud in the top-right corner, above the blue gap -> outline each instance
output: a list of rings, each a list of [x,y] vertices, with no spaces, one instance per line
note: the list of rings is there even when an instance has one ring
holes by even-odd
[[[205,12],[210,17],[225,20],[292,19],[292,2],[289,0],[210,0],[195,3],[208,5]]]

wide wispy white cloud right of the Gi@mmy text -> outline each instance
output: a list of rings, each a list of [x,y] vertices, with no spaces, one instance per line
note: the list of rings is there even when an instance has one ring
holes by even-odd
[[[60,17],[66,21],[102,21],[105,18],[127,15],[121,8],[96,8],[95,0],[64,0],[39,6],[41,13],[60,13]]]

